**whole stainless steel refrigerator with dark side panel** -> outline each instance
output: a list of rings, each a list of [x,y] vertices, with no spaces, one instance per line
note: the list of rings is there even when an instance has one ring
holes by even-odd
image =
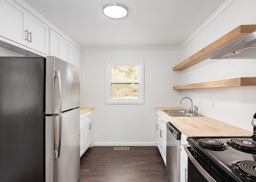
[[[80,178],[80,68],[0,57],[0,181]]]

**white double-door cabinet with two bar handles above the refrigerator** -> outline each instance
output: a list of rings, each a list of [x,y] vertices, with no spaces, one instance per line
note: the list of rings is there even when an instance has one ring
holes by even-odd
[[[0,1],[0,35],[48,55],[49,27],[12,0]]]

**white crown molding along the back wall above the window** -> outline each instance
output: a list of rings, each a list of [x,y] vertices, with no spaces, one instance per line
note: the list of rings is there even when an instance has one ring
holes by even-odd
[[[82,51],[95,50],[180,50],[180,47],[81,47]]]

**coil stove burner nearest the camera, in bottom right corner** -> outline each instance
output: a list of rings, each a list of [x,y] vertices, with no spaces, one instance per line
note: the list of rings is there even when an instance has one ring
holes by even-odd
[[[256,162],[251,160],[241,160],[232,162],[230,169],[245,181],[256,182]]]

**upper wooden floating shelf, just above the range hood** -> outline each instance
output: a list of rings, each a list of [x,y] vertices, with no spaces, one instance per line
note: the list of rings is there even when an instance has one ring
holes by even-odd
[[[172,70],[184,70],[197,63],[200,63],[201,61],[208,59],[211,53],[214,53],[215,51],[218,51],[219,49],[222,49],[223,47],[230,45],[231,43],[239,39],[242,39],[243,37],[249,35],[250,33],[253,33],[254,31],[256,31],[256,25],[240,25],[226,35],[223,35],[210,45],[204,47],[204,49],[201,49],[194,55],[190,56],[188,59],[185,59],[184,61],[173,67]]]

